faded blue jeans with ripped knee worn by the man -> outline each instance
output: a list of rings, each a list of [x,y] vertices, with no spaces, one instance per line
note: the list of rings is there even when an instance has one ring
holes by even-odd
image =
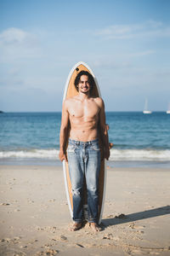
[[[67,154],[72,185],[73,220],[77,223],[82,222],[85,178],[88,192],[88,222],[97,223],[100,170],[99,141],[96,139],[84,143],[69,139]]]

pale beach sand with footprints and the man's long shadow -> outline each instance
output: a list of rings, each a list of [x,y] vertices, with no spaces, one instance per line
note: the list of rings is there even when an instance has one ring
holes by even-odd
[[[102,231],[71,232],[62,167],[0,166],[0,255],[170,255],[170,170],[107,168]]]

